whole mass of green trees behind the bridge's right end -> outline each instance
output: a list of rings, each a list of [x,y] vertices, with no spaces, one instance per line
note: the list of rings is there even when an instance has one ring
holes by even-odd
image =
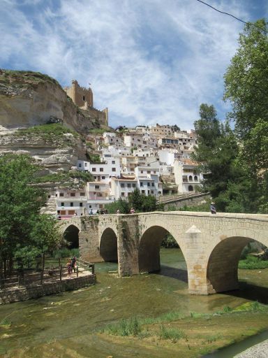
[[[265,20],[255,24],[267,30]],[[268,212],[268,37],[246,24],[239,48],[225,73],[225,101],[230,101],[234,130],[221,123],[213,106],[200,106],[195,122],[194,159],[205,173],[204,189],[218,210]]]

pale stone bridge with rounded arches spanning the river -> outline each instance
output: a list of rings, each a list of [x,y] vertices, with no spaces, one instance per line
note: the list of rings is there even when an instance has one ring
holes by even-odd
[[[160,247],[170,233],[187,264],[191,294],[213,294],[238,288],[241,250],[250,241],[268,246],[268,215],[153,212],[91,215],[59,222],[62,233],[79,229],[82,259],[118,260],[119,275],[160,269]]]

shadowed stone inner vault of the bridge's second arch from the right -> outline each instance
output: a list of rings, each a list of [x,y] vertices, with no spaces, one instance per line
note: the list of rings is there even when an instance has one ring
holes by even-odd
[[[140,238],[138,247],[138,262],[140,272],[156,272],[161,268],[160,248],[163,238],[166,234],[171,234],[177,241],[181,252],[184,255],[184,249],[181,248],[180,241],[169,229],[160,225],[154,225],[147,228]],[[186,257],[184,255],[186,261]],[[187,262],[186,262],[187,264]]]

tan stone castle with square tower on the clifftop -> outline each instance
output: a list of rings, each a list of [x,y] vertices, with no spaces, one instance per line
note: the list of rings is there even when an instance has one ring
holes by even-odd
[[[73,103],[80,108],[85,117],[95,120],[100,125],[108,125],[108,108],[104,110],[94,108],[93,92],[90,87],[88,89],[81,87],[77,80],[72,80],[72,85],[65,87],[64,91],[73,100]]]

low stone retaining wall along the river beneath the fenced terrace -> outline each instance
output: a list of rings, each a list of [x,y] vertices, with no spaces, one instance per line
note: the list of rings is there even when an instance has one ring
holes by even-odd
[[[1,289],[0,304],[12,303],[17,301],[26,301],[27,299],[37,299],[40,296],[49,294],[58,294],[59,292],[70,291],[80,287],[94,285],[96,283],[96,275],[87,275],[61,282],[44,283],[43,285],[35,285],[30,287]]]

